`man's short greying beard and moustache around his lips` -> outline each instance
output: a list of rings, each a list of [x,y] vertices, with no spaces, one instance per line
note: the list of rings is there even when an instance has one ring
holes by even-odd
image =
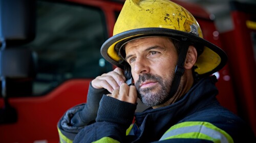
[[[138,97],[147,106],[157,106],[157,105],[163,104],[168,99],[170,99],[169,92],[170,92],[170,85],[172,83],[170,79],[172,78],[164,80],[161,76],[153,75],[150,73],[144,73],[139,75],[139,79],[135,83],[135,87],[138,92]],[[139,85],[146,80],[158,82],[160,84],[160,89],[158,91],[154,91],[154,93],[152,91],[155,88],[159,88],[159,87],[150,87],[150,88],[141,89]]]

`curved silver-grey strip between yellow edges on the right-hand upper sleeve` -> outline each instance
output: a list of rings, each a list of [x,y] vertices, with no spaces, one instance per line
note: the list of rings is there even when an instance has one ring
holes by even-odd
[[[224,134],[222,134],[219,131],[205,127],[203,125],[186,126],[186,127],[181,127],[181,128],[170,130],[170,131],[166,132],[160,138],[160,140],[164,140],[165,138],[170,138],[172,136],[179,135],[179,134],[193,133],[193,132],[205,134],[212,138],[211,141],[219,140],[222,143],[228,143],[228,139],[225,137]],[[187,135],[184,135],[184,138],[200,138],[200,137],[195,137],[195,136],[189,137]],[[205,138],[201,138],[201,139],[205,139]]]

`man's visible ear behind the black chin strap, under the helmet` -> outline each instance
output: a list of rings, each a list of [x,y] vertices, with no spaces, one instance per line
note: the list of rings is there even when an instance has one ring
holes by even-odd
[[[189,46],[187,50],[187,56],[184,63],[185,69],[191,69],[197,61],[197,50],[194,46]]]

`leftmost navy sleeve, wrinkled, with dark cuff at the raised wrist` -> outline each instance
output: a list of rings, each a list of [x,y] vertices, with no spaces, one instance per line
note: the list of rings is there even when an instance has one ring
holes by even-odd
[[[73,142],[79,130],[95,122],[103,94],[109,94],[109,92],[105,89],[94,89],[90,83],[87,103],[68,109],[58,121],[57,129],[60,142]]]

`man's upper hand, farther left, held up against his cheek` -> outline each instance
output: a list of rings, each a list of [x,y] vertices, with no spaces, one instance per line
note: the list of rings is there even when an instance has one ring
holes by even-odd
[[[97,76],[92,80],[92,86],[95,89],[106,89],[112,93],[115,89],[119,89],[120,85],[124,83],[125,77],[122,69],[116,68],[115,70]]]

